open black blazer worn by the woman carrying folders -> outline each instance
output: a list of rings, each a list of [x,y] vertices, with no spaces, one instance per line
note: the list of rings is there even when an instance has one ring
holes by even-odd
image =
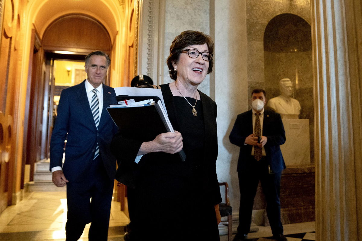
[[[168,84],[160,85],[164,102],[166,105],[168,117],[174,130],[179,130],[179,123],[174,106],[173,95]],[[209,180],[209,186],[204,187],[210,189],[213,193],[213,204],[221,202],[218,178],[216,175],[216,159],[218,156],[218,138],[216,130],[216,103],[207,95],[199,91],[202,100],[202,109],[205,126],[205,151],[203,158],[203,166],[206,168],[205,178]],[[147,130],[146,130],[147,131]],[[182,133],[181,133],[182,134]],[[142,141],[123,138],[120,133],[114,135],[111,150],[117,157],[118,169],[115,179],[123,184],[134,187],[135,178],[137,178],[136,169],[148,168],[152,172],[172,171],[177,175],[181,170],[172,169],[174,166],[168,165],[172,162],[181,162],[180,156],[176,154],[167,154],[164,152],[153,152],[144,155],[138,164],[134,163],[136,155]],[[186,156],[187,159],[187,156]],[[150,165],[148,165],[151,163]],[[163,165],[165,164],[165,165]],[[162,169],[164,168],[164,169]],[[167,170],[166,170],[167,169]],[[181,173],[179,173],[181,175]]]

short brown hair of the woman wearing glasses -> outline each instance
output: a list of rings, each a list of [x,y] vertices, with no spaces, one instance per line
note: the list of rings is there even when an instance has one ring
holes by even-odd
[[[181,51],[190,45],[202,45],[204,43],[206,43],[207,48],[209,48],[209,53],[214,54],[214,42],[209,35],[204,34],[203,32],[187,30],[176,36],[176,38],[171,43],[170,55],[167,57],[166,61],[171,79],[176,80],[177,78],[177,72],[173,70],[172,63],[177,63]],[[211,58],[209,60],[209,69],[207,70],[207,74],[212,72],[212,61],[213,60]]]

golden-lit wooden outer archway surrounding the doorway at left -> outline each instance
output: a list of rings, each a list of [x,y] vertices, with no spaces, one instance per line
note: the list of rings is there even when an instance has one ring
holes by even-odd
[[[34,162],[46,157],[47,145],[43,143],[48,142],[52,115],[51,88],[46,78],[51,80],[51,59],[83,61],[84,55],[94,48],[103,50],[98,46],[107,46],[106,52],[111,55],[108,84],[112,87],[127,85],[137,69],[139,5],[140,0],[100,0],[97,4],[91,0],[32,0],[26,3],[0,0],[0,22],[4,30],[0,39],[0,66],[6,69],[0,74],[4,77],[1,80],[6,82],[6,85],[0,86],[0,112],[3,112],[0,113],[3,127],[3,141],[0,141],[0,212],[22,199],[24,182],[33,179]],[[88,17],[90,22],[97,23],[98,30],[106,33],[107,38],[99,41],[102,44],[89,48],[87,44],[92,41],[87,37],[92,36],[92,31],[84,33],[86,24],[75,29],[73,25],[78,22],[73,21],[68,22],[72,33],[69,28],[63,29],[58,38],[50,38],[50,43],[43,42],[50,25],[71,16]],[[78,41],[77,44],[67,45],[70,42],[64,42],[64,33],[78,37],[73,39]],[[60,40],[63,40],[63,45],[58,43],[58,48],[52,45]],[[72,49],[73,54],[55,54],[54,51],[61,50],[59,46],[68,48],[68,51]],[[127,63],[130,68],[125,69]],[[30,153],[28,145],[34,147]]]

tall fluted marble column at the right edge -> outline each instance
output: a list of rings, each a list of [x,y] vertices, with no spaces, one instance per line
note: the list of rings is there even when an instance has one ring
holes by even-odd
[[[316,240],[362,240],[360,0],[312,1]]]

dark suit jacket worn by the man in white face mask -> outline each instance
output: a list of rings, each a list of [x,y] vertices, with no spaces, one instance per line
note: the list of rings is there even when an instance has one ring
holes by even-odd
[[[230,142],[240,146],[237,171],[248,171],[250,165],[251,145],[244,145],[245,138],[253,133],[252,110],[237,116],[235,124],[229,135]],[[285,131],[281,116],[278,113],[264,110],[263,133],[268,138],[264,149],[265,158],[273,172],[279,173],[285,169],[285,163],[280,145],[285,142]]]

